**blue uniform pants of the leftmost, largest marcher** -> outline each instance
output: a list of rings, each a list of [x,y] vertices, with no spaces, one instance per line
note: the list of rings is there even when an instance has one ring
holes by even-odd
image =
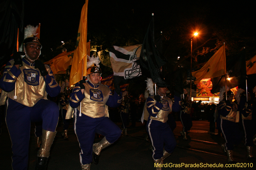
[[[54,132],[59,119],[59,107],[50,100],[39,100],[33,107],[12,99],[7,101],[6,124],[12,140],[13,170],[28,169],[28,147],[31,122],[43,121],[44,130]]]

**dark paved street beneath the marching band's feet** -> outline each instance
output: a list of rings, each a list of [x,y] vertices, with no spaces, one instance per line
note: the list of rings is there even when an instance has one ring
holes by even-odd
[[[208,170],[216,169],[209,167],[185,167],[185,164],[206,163],[223,164],[225,166],[226,157],[222,153],[220,144],[225,140],[221,136],[210,135],[209,122],[207,121],[193,121],[193,127],[188,134],[188,140],[184,141],[180,136],[182,125],[176,122],[177,127],[174,130],[174,136],[177,141],[177,146],[170,157],[164,160],[164,164],[172,166],[173,164],[184,164],[182,167],[164,167],[164,169],[198,169]],[[117,123],[120,127],[121,123]],[[60,132],[62,124],[59,123],[57,127],[58,133],[51,149],[51,156],[48,163],[48,170],[79,170],[79,144],[72,125],[68,129],[69,140],[64,140]],[[217,131],[216,131],[217,132]],[[34,140],[34,125],[31,124],[31,138],[29,149],[29,170],[34,170],[36,161],[36,149]],[[154,163],[152,161],[151,151],[149,151],[150,142],[145,140],[146,130],[144,124],[136,122],[136,127],[128,128],[129,136],[121,136],[114,144],[104,149],[100,155],[100,162],[98,165],[92,163],[91,170],[154,170]],[[98,142],[100,138],[96,138]],[[256,147],[253,154],[256,156]],[[240,168],[218,168],[218,169],[255,169],[256,164],[245,159],[246,150],[244,142],[236,146],[234,149],[234,158],[239,163],[244,163]],[[11,170],[11,140],[8,134],[5,123],[2,127],[2,135],[0,136],[0,169]],[[166,164],[166,165],[167,165]],[[240,164],[242,165],[242,164]],[[253,166],[248,168],[248,166]]]

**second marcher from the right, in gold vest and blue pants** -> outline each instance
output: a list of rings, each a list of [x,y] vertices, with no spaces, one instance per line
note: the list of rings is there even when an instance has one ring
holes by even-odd
[[[242,141],[242,133],[237,124],[239,122],[239,108],[238,105],[232,101],[233,98],[234,93],[232,91],[228,91],[228,100],[225,100],[226,96],[224,94],[224,100],[220,101],[218,104],[220,127],[226,140],[225,145],[223,144],[221,147],[227,155],[227,162],[229,164],[235,163],[235,160],[233,159],[234,145],[238,145]]]

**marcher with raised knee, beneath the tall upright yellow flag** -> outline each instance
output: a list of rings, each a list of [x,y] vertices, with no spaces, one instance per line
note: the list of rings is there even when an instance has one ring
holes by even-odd
[[[76,108],[74,113],[75,133],[81,148],[80,163],[82,170],[89,170],[91,162],[99,163],[100,151],[113,144],[120,136],[121,129],[108,117],[108,106],[118,107],[122,101],[121,89],[114,95],[110,88],[100,84],[101,70],[96,65],[87,69],[87,82],[76,83],[70,94],[69,104]],[[81,114],[80,105],[81,103]],[[105,136],[93,144],[95,133]]]

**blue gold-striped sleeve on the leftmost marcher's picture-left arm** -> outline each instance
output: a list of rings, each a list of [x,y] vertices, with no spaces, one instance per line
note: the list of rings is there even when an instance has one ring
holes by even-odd
[[[17,69],[17,67],[13,66],[11,63],[12,60],[10,60],[5,68],[4,68],[4,74],[3,77],[0,80],[0,87],[5,92],[11,92],[15,88],[15,82],[17,78],[19,77],[21,70]]]

